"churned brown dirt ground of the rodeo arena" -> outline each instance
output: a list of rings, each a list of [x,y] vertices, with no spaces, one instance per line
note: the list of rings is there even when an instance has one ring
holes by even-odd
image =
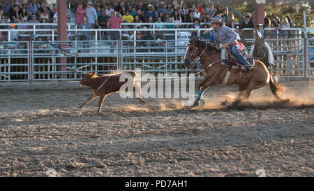
[[[207,90],[207,104],[177,99],[98,99],[78,82],[0,84],[0,176],[314,176],[314,83],[269,86],[249,104],[220,106],[235,86]],[[227,95],[227,96],[226,96]]]

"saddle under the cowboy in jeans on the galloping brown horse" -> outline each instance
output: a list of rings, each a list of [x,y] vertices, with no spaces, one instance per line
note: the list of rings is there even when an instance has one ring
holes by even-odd
[[[255,68],[255,62],[254,62],[254,58],[253,56],[251,56],[250,54],[248,54],[248,51],[246,50],[246,48],[244,48],[244,50],[241,51],[241,54],[244,55],[244,57],[246,58],[246,60],[250,63],[253,63],[253,65],[243,65],[241,64],[238,59],[236,57],[234,57],[234,55],[232,55],[232,50],[231,48],[228,48],[226,51],[226,58],[227,58],[227,66],[228,66],[228,70],[231,71],[232,66],[238,66],[239,69],[241,69],[241,74],[243,74],[245,71],[249,71],[252,72],[253,69]]]

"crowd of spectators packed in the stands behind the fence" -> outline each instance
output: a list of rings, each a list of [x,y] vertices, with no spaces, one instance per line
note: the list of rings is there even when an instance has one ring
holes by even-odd
[[[1,0],[0,1],[0,29],[27,29],[29,26],[23,23],[56,23],[57,6],[47,0]],[[76,8],[76,24],[79,29],[119,29],[122,22],[134,23],[125,25],[125,28],[152,28],[156,24],[159,29],[173,28],[207,28],[208,23],[214,18],[225,22],[228,27],[239,29],[239,38],[245,32],[244,28],[255,28],[251,13],[246,13],[246,18],[240,22],[234,14],[228,13],[225,7],[214,6],[210,1],[184,1],[184,0],[98,0],[82,1]],[[70,22],[70,16],[68,16]],[[13,23],[21,23],[15,26]],[[147,23],[147,24],[140,24]],[[181,25],[180,23],[190,23]],[[289,31],[283,28],[292,28],[290,17],[267,17],[265,14],[264,27],[272,27],[283,36],[289,36]],[[40,25],[39,29],[50,29],[50,26]],[[93,32],[82,34],[83,39],[94,39]],[[105,34],[103,34],[104,36]],[[128,34],[124,36],[130,37]],[[158,35],[157,35],[158,36]],[[159,35],[164,38],[162,34]],[[15,39],[18,34],[14,34]],[[110,34],[111,38],[117,38],[117,34]],[[134,38],[134,36],[131,36]],[[6,33],[1,33],[0,40],[6,38]],[[151,37],[154,39],[154,34]]]

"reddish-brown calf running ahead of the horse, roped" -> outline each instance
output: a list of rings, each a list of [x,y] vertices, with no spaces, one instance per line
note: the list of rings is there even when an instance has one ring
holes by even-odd
[[[124,75],[128,74],[128,75]],[[93,100],[95,97],[100,97],[99,103],[98,103],[98,113],[100,113],[100,108],[103,106],[103,101],[105,97],[108,94],[112,94],[114,92],[119,92],[120,87],[124,85],[126,82],[120,82],[120,77],[124,75],[125,78],[128,78],[129,76],[132,76],[133,80],[133,91],[135,92],[135,71],[128,71],[127,73],[121,73],[111,76],[97,76],[94,72],[93,73],[87,73],[87,75],[84,76],[84,78],[80,81],[80,86],[87,85],[91,87],[94,91],[93,94],[91,94],[91,97],[87,99],[87,101],[80,106],[80,108],[84,107],[89,103],[89,101]],[[142,99],[142,90],[140,88],[140,94],[137,95],[136,99],[140,100],[142,103],[145,104],[145,101]],[[129,91],[129,90],[128,90]]]

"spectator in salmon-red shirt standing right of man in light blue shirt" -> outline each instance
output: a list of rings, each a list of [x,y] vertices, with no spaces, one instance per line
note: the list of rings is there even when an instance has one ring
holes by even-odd
[[[107,28],[108,29],[119,29],[120,28],[120,24],[121,24],[122,20],[120,17],[117,17],[117,13],[112,11],[111,12],[111,17],[108,19],[107,22]],[[110,41],[112,41],[111,43],[111,50],[110,53],[113,53],[114,50],[114,41],[119,40],[119,31],[110,31]]]

